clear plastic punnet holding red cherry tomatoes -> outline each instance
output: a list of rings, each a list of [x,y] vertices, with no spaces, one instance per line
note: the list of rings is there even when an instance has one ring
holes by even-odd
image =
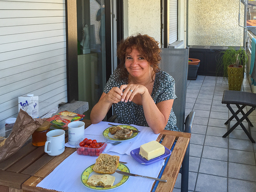
[[[101,147],[99,147],[99,148],[81,147],[79,145],[79,143],[81,141],[83,141],[85,138],[91,139],[91,140],[97,140],[98,143],[103,143],[103,145]],[[99,156],[100,153],[102,153],[104,151],[104,149],[107,147],[107,141],[108,141],[108,139],[103,137],[103,135],[84,135],[75,144],[76,152],[79,155]]]

